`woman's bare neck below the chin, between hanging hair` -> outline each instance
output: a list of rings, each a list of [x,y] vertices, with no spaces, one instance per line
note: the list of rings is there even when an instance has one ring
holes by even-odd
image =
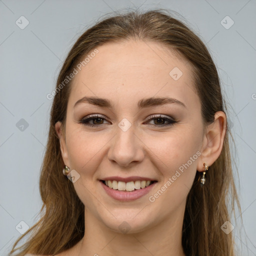
[[[85,210],[85,234],[76,246],[77,255],[185,256],[181,246],[182,222],[179,209],[171,218],[168,216],[146,230],[119,233]]]

